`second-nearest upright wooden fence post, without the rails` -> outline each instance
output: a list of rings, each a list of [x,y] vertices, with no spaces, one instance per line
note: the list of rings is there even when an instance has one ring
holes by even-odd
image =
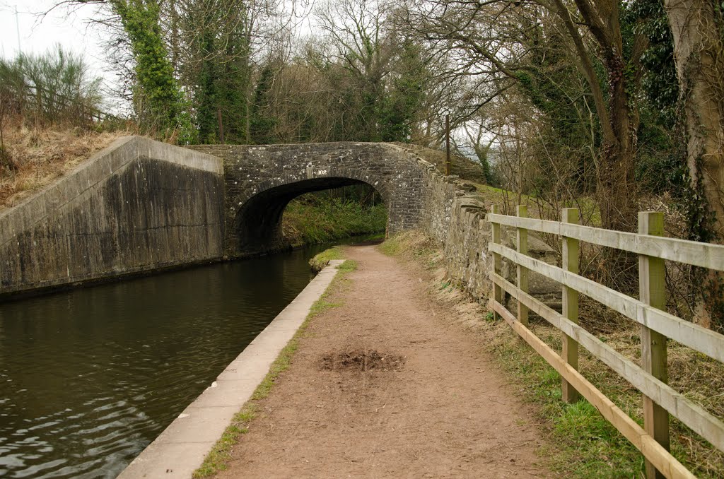
[[[560,221],[563,223],[578,224],[578,209],[563,208],[560,212]],[[563,269],[578,274],[578,239],[563,237]],[[563,287],[563,315],[573,323],[578,323],[578,292],[569,287]],[[578,342],[563,334],[563,350],[561,356],[566,363],[578,369]],[[578,400],[578,391],[571,383],[562,380],[560,397],[564,402],[573,403]]]

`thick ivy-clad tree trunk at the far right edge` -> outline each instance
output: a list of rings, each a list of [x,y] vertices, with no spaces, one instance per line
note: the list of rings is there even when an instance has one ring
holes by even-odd
[[[686,162],[691,188],[704,196],[710,217],[694,228],[724,240],[724,51],[722,19],[711,0],[665,0],[686,119]],[[696,231],[694,231],[696,234]],[[723,274],[708,274],[700,323],[724,326]],[[708,314],[707,314],[708,313]],[[712,324],[712,321],[714,324]]]

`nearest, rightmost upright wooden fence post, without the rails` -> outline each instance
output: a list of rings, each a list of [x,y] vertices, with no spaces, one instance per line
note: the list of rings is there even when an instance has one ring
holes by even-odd
[[[639,234],[663,236],[664,213],[657,211],[639,212]],[[664,260],[639,255],[639,300],[654,308],[666,309],[666,267]],[[641,368],[647,373],[668,383],[666,370],[666,336],[647,326],[641,326]],[[669,450],[669,413],[644,395],[644,429]],[[646,477],[663,478],[656,467],[646,461]]]

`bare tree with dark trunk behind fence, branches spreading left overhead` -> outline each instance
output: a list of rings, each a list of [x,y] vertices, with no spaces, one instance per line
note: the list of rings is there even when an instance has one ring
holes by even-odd
[[[521,79],[526,59],[536,48],[534,41],[526,41],[531,40],[531,32],[544,25],[565,33],[562,46],[574,54],[571,59],[586,80],[585,93],[592,98],[600,125],[597,192],[603,226],[631,230],[639,124],[635,92],[640,75],[635,72],[645,42],[637,36],[630,55],[624,56],[619,2],[419,0],[413,10],[416,14],[411,14],[410,24],[418,33],[439,48],[457,52],[454,65],[459,75],[497,85],[498,91],[489,91],[490,96]],[[597,65],[603,67],[603,77]]]

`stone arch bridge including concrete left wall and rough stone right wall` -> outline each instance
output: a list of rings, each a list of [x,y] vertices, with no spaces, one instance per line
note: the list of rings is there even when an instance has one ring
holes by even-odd
[[[282,212],[292,198],[361,183],[374,187],[387,205],[388,234],[425,232],[442,246],[450,278],[486,297],[486,207],[473,185],[440,174],[412,148],[324,143],[192,149],[122,138],[53,185],[0,210],[0,297],[277,250],[285,246]],[[431,159],[441,164],[444,156],[437,154]],[[453,172],[468,177],[475,169],[453,164]],[[550,256],[552,250],[539,243],[539,256]],[[529,250],[536,255],[532,239]]]

